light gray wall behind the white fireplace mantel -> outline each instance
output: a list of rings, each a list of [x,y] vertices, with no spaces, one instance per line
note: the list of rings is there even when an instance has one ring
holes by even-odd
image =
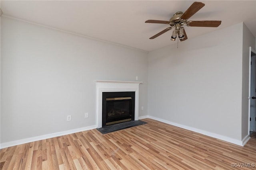
[[[148,53],[1,18],[1,143],[95,125],[94,80],[136,76],[144,116]]]

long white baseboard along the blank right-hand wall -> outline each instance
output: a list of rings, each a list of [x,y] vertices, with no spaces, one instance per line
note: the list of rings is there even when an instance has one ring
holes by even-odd
[[[150,119],[154,119],[154,120],[157,120],[157,121],[160,121],[160,122],[163,122],[163,123],[166,123],[166,124],[169,124],[169,125],[173,125],[173,126],[176,126],[176,127],[180,127],[182,129],[187,129],[189,131],[194,131],[194,132],[197,132],[197,133],[201,133],[203,135],[206,135],[206,136],[209,136],[209,137],[213,137],[213,138],[216,138],[216,139],[220,139],[222,141],[226,141],[226,142],[229,142],[229,143],[233,143],[235,145],[239,145],[239,146],[244,146],[250,139],[250,135],[246,136],[242,141],[239,141],[237,139],[233,139],[233,138],[230,138],[230,137],[226,137],[226,136],[222,136],[222,135],[218,135],[216,133],[212,133],[212,132],[208,132],[208,131],[204,131],[204,130],[201,130],[201,129],[196,129],[194,127],[190,127],[190,126],[186,126],[186,125],[181,125],[181,124],[178,124],[178,123],[174,123],[174,122],[171,122],[171,121],[167,121],[165,119],[161,119],[161,118],[158,118],[158,117],[153,117],[153,116],[148,116],[148,118]]]

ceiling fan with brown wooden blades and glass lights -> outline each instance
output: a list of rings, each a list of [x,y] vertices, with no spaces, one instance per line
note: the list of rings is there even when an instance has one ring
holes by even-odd
[[[156,35],[150,37],[149,39],[154,39],[158,37],[159,35],[162,35],[163,33],[169,31],[174,27],[174,30],[172,31],[171,40],[175,41],[178,35],[178,38],[180,41],[184,41],[188,39],[184,27],[182,25],[186,25],[189,27],[218,27],[221,23],[221,21],[188,21],[190,17],[192,17],[196,12],[198,12],[201,8],[204,7],[204,3],[202,2],[194,2],[187,10],[186,12],[176,12],[170,21],[162,21],[162,20],[147,20],[145,23],[163,23],[168,24],[170,27],[164,29],[160,33],[157,33]]]

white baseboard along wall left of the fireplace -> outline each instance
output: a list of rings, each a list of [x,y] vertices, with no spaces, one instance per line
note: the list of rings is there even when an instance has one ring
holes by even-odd
[[[51,134],[47,134],[47,135],[41,135],[41,136],[37,136],[37,137],[20,139],[17,141],[10,141],[10,142],[6,142],[6,143],[1,143],[0,149],[12,147],[12,146],[20,145],[20,144],[24,144],[24,143],[40,141],[40,140],[48,139],[48,138],[52,138],[52,137],[58,137],[58,136],[68,135],[68,134],[77,133],[77,132],[81,132],[81,131],[87,131],[87,130],[91,130],[91,129],[95,129],[95,128],[96,128],[96,125],[92,125],[92,126],[81,127],[81,128],[77,128],[77,129],[71,129],[68,131],[62,131],[62,132],[51,133]]]

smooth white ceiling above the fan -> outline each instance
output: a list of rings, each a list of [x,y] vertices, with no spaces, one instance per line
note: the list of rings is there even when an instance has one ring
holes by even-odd
[[[193,2],[191,0],[1,0],[1,9],[3,16],[31,21],[144,51],[152,51],[177,43],[177,40],[170,41],[172,30],[156,39],[149,39],[169,25],[144,22],[149,19],[168,21],[175,12],[185,12]],[[217,28],[185,26],[189,39],[242,21],[256,37],[256,0],[206,0],[201,2],[205,6],[189,20],[222,20],[222,23]]]

